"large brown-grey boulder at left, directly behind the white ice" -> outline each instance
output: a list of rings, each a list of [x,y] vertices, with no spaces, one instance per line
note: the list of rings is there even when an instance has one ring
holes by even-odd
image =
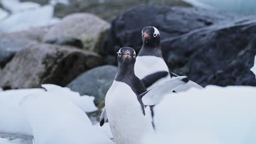
[[[68,46],[34,44],[18,52],[2,70],[0,87],[33,88],[42,83],[66,86],[84,71],[102,64],[96,53]]]

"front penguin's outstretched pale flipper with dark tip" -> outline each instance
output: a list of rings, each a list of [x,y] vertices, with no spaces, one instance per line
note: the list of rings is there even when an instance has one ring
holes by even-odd
[[[170,93],[174,89],[185,85],[188,81],[187,76],[174,77],[171,80],[160,83],[147,92],[139,94],[139,98],[141,98],[143,104],[146,106],[156,105],[160,103],[166,93]]]

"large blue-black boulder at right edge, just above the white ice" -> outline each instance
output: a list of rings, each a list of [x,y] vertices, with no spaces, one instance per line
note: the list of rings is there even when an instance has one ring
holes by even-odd
[[[162,41],[168,67],[201,86],[256,86],[254,16],[218,23]]]

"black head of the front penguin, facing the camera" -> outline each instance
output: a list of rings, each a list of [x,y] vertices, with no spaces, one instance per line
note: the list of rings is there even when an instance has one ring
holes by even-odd
[[[136,52],[131,47],[122,47],[118,52],[118,65],[134,65],[136,61]]]

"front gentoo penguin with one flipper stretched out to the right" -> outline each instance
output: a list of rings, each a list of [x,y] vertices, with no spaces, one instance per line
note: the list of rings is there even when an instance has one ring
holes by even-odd
[[[165,93],[184,85],[188,78],[179,76],[147,91],[135,75],[135,51],[122,47],[117,59],[118,71],[105,100],[108,122],[115,143],[140,144],[144,135],[154,133],[152,119],[146,116],[144,106],[158,104]]]

